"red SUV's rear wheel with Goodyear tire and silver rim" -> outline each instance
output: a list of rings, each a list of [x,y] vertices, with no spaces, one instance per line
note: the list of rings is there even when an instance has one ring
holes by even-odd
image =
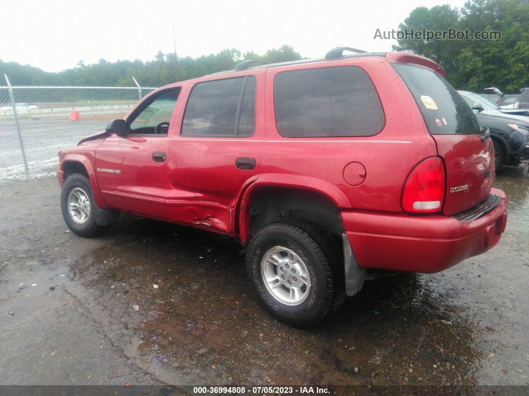
[[[246,264],[253,290],[267,311],[290,326],[307,328],[330,317],[345,297],[341,257],[340,247],[323,228],[287,218],[253,236]]]

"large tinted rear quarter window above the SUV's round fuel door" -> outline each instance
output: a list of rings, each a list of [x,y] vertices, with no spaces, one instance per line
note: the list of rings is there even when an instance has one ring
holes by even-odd
[[[357,66],[278,73],[273,106],[285,137],[372,136],[385,123],[377,91]]]

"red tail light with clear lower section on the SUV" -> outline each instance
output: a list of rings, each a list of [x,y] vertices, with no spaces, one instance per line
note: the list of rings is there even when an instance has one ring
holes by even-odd
[[[412,213],[441,211],[446,174],[441,158],[434,156],[419,162],[404,185],[402,207]]]

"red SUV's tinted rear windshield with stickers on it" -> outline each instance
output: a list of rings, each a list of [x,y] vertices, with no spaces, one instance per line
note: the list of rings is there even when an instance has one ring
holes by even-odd
[[[411,91],[432,135],[481,133],[476,115],[443,77],[420,66],[392,65]]]

